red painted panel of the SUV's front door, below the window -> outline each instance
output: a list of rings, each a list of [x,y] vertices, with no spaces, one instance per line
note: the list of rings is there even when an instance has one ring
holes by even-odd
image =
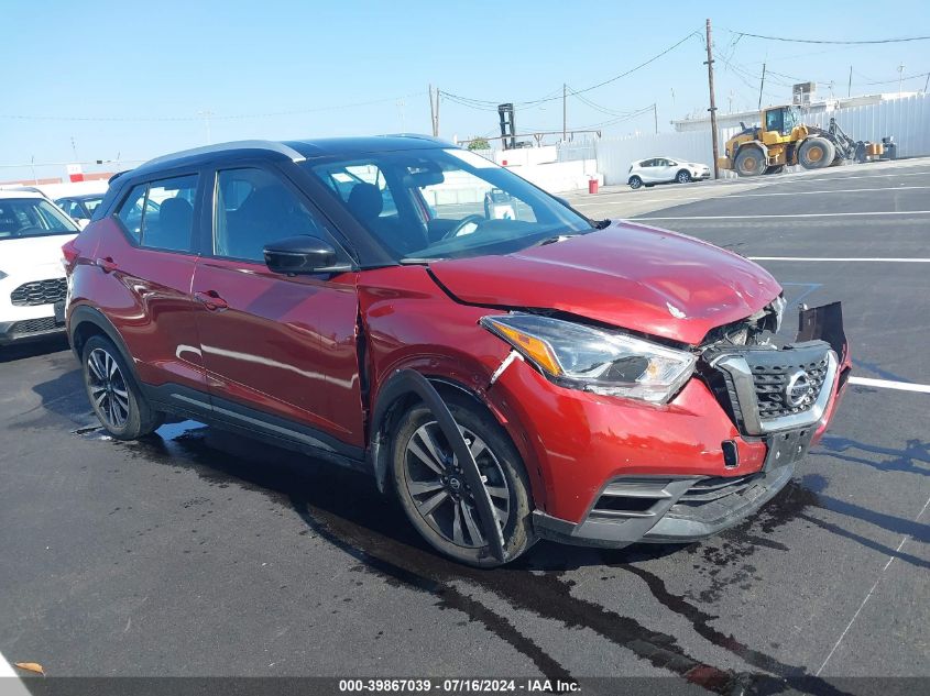
[[[198,316],[211,394],[363,446],[354,274],[283,277],[263,264],[201,258],[193,288],[228,305]]]

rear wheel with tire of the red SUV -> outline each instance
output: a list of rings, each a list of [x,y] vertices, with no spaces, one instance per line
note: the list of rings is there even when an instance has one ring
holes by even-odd
[[[87,398],[114,440],[135,440],[164,422],[164,415],[149,405],[112,341],[100,335],[88,339],[81,362]]]

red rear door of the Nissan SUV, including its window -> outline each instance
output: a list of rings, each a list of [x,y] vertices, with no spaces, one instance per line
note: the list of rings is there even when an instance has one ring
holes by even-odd
[[[120,230],[103,237],[95,259],[95,301],[125,341],[142,382],[168,393],[206,387],[195,319],[204,310],[190,295],[200,178],[188,172],[130,188],[105,221]]]

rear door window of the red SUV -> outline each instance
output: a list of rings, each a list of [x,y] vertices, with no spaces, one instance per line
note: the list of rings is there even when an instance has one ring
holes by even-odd
[[[117,214],[142,246],[193,252],[196,195],[196,174],[140,184]]]

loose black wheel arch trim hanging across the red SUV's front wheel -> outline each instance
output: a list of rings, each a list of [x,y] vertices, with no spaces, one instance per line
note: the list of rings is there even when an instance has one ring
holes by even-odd
[[[472,495],[474,495],[479,522],[485,539],[489,540],[491,555],[503,563],[506,561],[504,535],[501,532],[497,513],[491,502],[491,495],[484,488],[484,484],[481,480],[481,472],[478,469],[478,464],[439,391],[437,391],[429,379],[415,369],[396,371],[387,378],[378,395],[374,417],[372,418],[373,437],[369,450],[378,487],[382,491],[384,490],[389,466],[389,453],[384,452],[381,427],[391,408],[407,395],[418,397],[426,405],[434,418],[436,418],[436,422],[439,424],[442,434],[446,435],[446,440],[451,445],[459,462],[461,462],[466,483],[471,489]]]

